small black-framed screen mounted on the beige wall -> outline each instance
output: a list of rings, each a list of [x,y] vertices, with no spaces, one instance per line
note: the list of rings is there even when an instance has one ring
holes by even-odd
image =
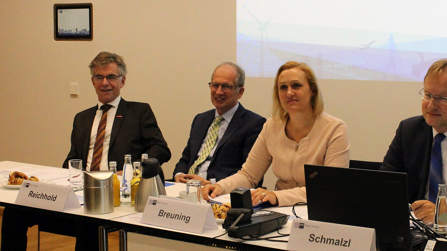
[[[55,40],[93,40],[93,5],[55,4]]]

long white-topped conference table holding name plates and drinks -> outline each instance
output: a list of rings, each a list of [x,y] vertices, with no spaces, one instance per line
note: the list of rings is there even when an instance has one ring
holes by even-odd
[[[230,238],[225,234],[225,230],[221,224],[223,220],[216,219],[218,229],[204,227],[202,234],[195,234],[186,231],[173,230],[169,228],[152,226],[141,223],[142,212],[135,212],[131,205],[121,205],[114,208],[114,212],[106,214],[88,214],[84,213],[83,206],[80,208],[66,207],[63,212],[53,211],[48,209],[34,208],[30,206],[17,205],[15,200],[18,194],[18,189],[10,189],[4,186],[7,182],[7,174],[11,171],[26,170],[27,172],[39,173],[44,178],[51,178],[55,184],[68,185],[68,169],[58,167],[46,167],[41,165],[18,163],[12,161],[0,162],[0,177],[3,177],[0,182],[0,206],[12,207],[18,209],[26,209],[37,213],[42,213],[49,216],[58,216],[74,219],[76,221],[86,221],[98,223],[100,227],[100,249],[107,250],[107,231],[119,230],[120,250],[185,250],[188,248],[200,248],[200,250],[216,250],[216,248],[235,249],[235,250],[286,250],[287,242],[271,242],[266,240],[248,241],[236,238]],[[25,174],[27,174],[25,172]],[[38,177],[39,178],[39,177]],[[165,187],[168,196],[177,197],[179,192],[186,190],[186,184],[167,184]],[[82,191],[75,192],[82,200]],[[209,205],[211,205],[208,202]],[[278,211],[292,215],[291,207],[271,207],[267,210]],[[295,206],[295,210],[299,212],[301,218],[307,219],[307,208],[305,205]],[[280,228],[281,234],[289,234],[291,230],[292,219],[295,216],[289,217],[287,224]],[[222,235],[224,234],[224,235]],[[222,236],[219,236],[222,235]],[[262,237],[278,236],[275,231],[270,234],[265,234]],[[219,237],[217,237],[219,236]],[[275,238],[277,240],[287,241],[288,236]]]

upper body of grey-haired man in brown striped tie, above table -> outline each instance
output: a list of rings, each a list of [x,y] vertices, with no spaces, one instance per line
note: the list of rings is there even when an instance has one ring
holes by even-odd
[[[119,172],[126,154],[131,154],[133,161],[139,161],[141,154],[147,153],[149,158],[158,159],[160,164],[167,162],[171,152],[149,104],[126,101],[120,96],[127,70],[122,57],[101,52],[89,67],[99,102],[76,114],[72,146],[63,167],[68,168],[70,159],[82,159],[84,170],[92,170],[98,124],[103,114],[101,106],[106,104],[112,106],[106,112],[102,158],[98,160],[99,168],[94,170],[109,170],[108,163],[116,161]]]

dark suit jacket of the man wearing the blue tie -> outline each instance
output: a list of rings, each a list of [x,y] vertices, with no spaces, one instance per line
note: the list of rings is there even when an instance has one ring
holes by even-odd
[[[381,171],[405,172],[408,175],[409,203],[424,200],[430,172],[433,129],[424,117],[410,117],[399,124]]]

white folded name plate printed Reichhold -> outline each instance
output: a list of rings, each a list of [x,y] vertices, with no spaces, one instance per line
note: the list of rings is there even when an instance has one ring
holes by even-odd
[[[81,207],[71,187],[24,180],[15,204],[63,212],[65,206]]]

